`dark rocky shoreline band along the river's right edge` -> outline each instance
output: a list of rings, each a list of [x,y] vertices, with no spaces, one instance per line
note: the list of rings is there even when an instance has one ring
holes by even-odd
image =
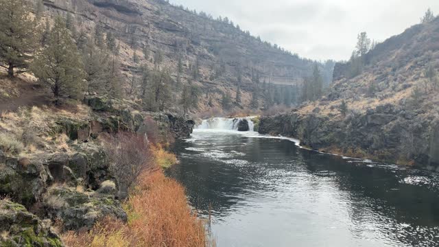
[[[261,117],[259,133],[294,137],[322,152],[439,169],[439,123],[421,109],[386,104],[346,117],[293,110]]]

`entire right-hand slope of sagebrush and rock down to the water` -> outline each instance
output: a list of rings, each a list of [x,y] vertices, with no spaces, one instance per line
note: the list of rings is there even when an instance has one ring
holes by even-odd
[[[336,64],[325,97],[262,118],[260,132],[287,134],[324,152],[436,169],[439,18],[385,40],[362,59],[356,76],[352,62]]]

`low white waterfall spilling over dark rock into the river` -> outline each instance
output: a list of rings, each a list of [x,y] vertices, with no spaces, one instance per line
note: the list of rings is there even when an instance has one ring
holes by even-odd
[[[249,131],[254,131],[254,123],[252,117],[239,117],[239,118],[225,118],[225,117],[213,117],[211,119],[205,119],[195,129],[198,130],[238,130],[239,121],[246,119],[248,121]]]

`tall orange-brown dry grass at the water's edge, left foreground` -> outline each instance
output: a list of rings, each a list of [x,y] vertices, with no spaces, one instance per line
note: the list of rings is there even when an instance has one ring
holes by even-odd
[[[144,172],[125,204],[128,224],[104,219],[92,231],[62,235],[71,247],[214,246],[204,223],[191,213],[185,189],[161,170]]]

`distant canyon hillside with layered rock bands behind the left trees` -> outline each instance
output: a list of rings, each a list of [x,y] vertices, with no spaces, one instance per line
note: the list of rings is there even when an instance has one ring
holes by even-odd
[[[32,1],[34,5],[38,4],[38,0]],[[139,83],[143,64],[154,68],[158,54],[163,54],[161,67],[169,69],[174,81],[180,80],[178,61],[181,60],[182,84],[200,86],[205,96],[200,97],[195,111],[221,108],[222,95],[226,93],[235,99],[238,84],[242,102],[233,102],[232,108],[249,108],[252,92],[256,89],[260,89],[258,93],[261,94],[259,108],[267,106],[272,103],[265,104],[263,95],[270,95],[265,91],[273,90],[270,96],[273,98],[285,87],[300,85],[302,78],[311,74],[315,63],[251,36],[226,18],[213,19],[203,12],[196,14],[166,1],[44,0],[43,3],[51,18],[71,14],[78,32],[91,35],[98,26],[105,33],[115,35],[120,41],[119,56],[126,89],[133,74]],[[133,62],[134,51],[139,62]],[[194,76],[195,67],[199,70],[197,76]],[[333,65],[319,64],[319,67],[325,84],[329,84]],[[281,85],[277,86],[279,89],[277,84]],[[294,93],[297,91],[296,87],[290,89]],[[177,92],[178,89],[174,90]],[[288,104],[296,102],[290,100]]]

